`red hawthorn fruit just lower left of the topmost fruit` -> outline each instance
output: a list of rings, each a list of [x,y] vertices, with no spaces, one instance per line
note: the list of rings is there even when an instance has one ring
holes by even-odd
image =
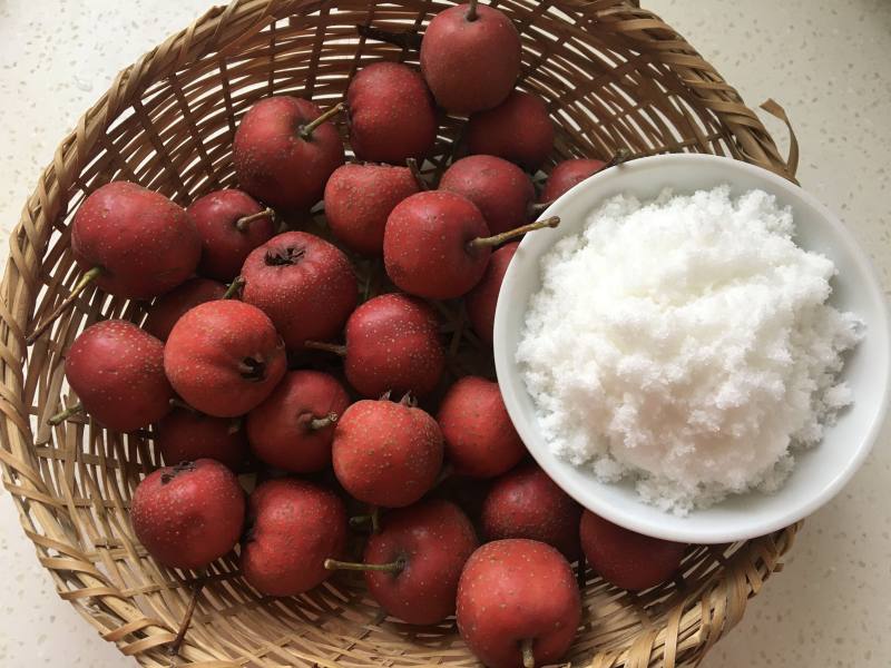
[[[404,165],[422,159],[437,140],[437,110],[421,75],[399,62],[373,62],[346,90],[350,145],[355,157]],[[325,203],[327,212],[327,203]]]

